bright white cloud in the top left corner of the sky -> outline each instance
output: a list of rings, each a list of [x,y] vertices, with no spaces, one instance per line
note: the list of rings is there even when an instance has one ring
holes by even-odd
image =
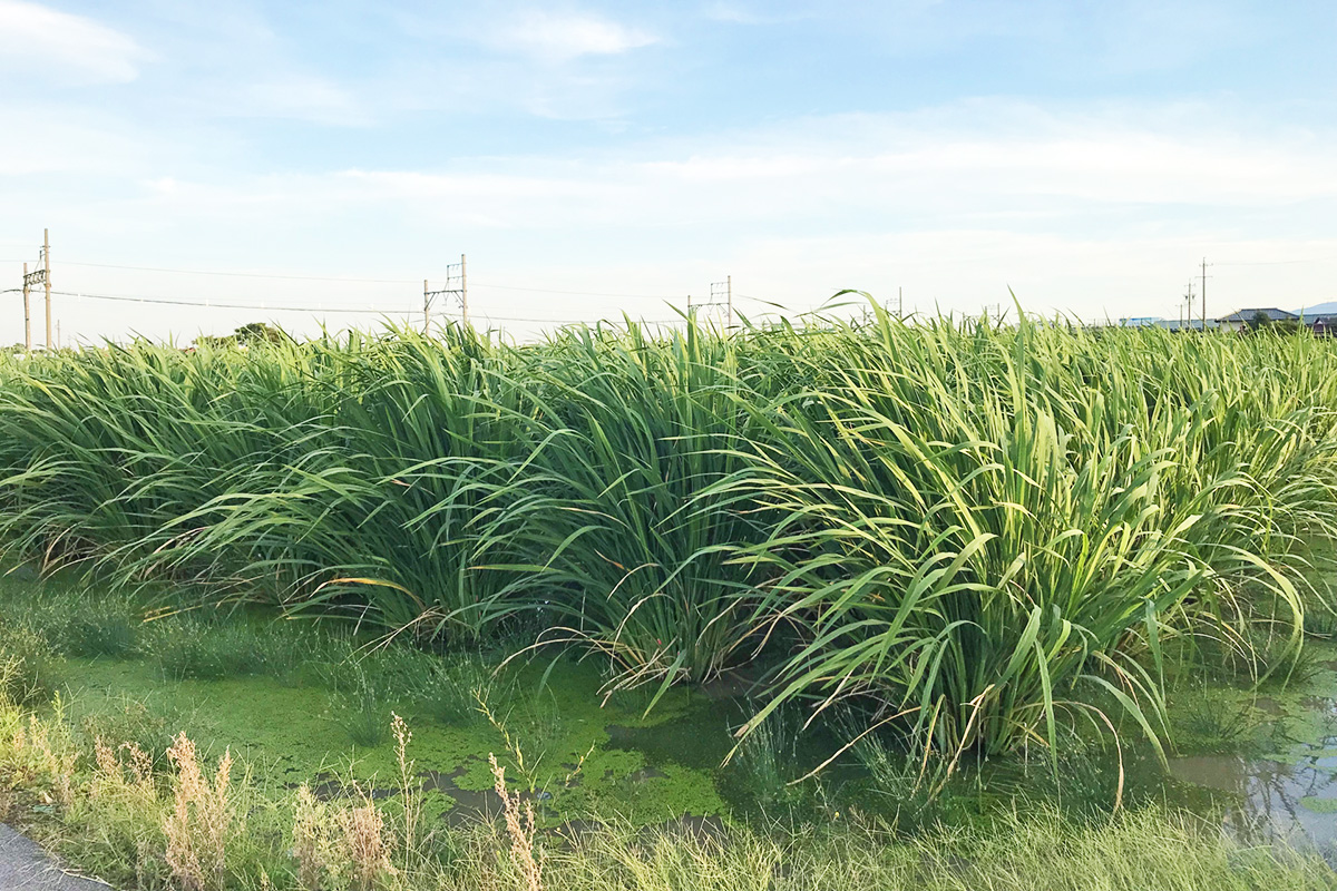
[[[0,0],[0,72],[37,71],[59,83],[127,83],[144,51],[98,21],[36,3]]]

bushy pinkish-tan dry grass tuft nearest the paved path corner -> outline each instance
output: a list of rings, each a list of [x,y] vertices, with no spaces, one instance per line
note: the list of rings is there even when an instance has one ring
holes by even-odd
[[[167,866],[185,891],[221,891],[226,887],[227,839],[238,822],[229,795],[231,751],[218,759],[211,783],[201,771],[195,743],[185,733],[172,741],[167,757],[176,768],[172,811],[163,820]]]

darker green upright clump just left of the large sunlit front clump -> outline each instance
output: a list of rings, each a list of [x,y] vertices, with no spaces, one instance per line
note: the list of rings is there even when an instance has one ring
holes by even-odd
[[[709,680],[755,631],[747,569],[730,558],[763,520],[709,494],[745,462],[739,351],[695,323],[666,341],[568,329],[531,371],[551,425],[535,456],[548,498],[519,534],[562,617],[551,637],[607,656],[615,687]]]

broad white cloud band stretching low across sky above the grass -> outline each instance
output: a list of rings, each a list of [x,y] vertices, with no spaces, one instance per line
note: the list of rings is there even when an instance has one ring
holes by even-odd
[[[1217,123],[1203,126],[1211,115]],[[151,242],[187,267],[421,279],[467,251],[480,317],[588,318],[619,306],[664,314],[656,301],[488,291],[488,283],[686,294],[725,274],[737,291],[796,310],[840,287],[885,298],[904,285],[906,306],[977,311],[1007,302],[1012,286],[1032,310],[1174,315],[1203,255],[1218,263],[1210,311],[1332,299],[1337,162],[1324,151],[1329,142],[1326,132],[1250,131],[1209,108],[1076,115],[981,100],[718,134],[709,150],[683,136],[604,156],[456,158],[301,175],[138,163],[134,192],[49,194],[15,176],[0,179],[0,203],[16,218],[40,210],[64,256],[94,262],[142,262]],[[3,156],[0,147],[0,168]],[[202,251],[219,259],[187,259]],[[1310,262],[1229,266],[1296,258]],[[86,290],[119,293],[104,270],[62,274],[71,285],[87,275]],[[195,294],[197,285],[186,285],[180,293]],[[150,277],[120,291],[171,293],[163,287]],[[297,286],[266,283],[257,293],[278,301],[289,287]],[[413,291],[392,289],[384,299],[412,306]],[[328,299],[321,294],[291,291],[291,299]],[[90,330],[95,323],[123,322],[90,314]],[[171,321],[176,330],[198,323]],[[0,342],[13,339],[5,325],[0,318]]]

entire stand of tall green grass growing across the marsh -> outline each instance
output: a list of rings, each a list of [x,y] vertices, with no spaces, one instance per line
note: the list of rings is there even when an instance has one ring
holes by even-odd
[[[955,763],[1060,723],[1163,737],[1173,639],[1298,645],[1334,443],[1309,337],[877,314],[135,343],[0,358],[0,542],[447,645],[528,635],[614,688],[759,660],[745,732],[838,705]]]

